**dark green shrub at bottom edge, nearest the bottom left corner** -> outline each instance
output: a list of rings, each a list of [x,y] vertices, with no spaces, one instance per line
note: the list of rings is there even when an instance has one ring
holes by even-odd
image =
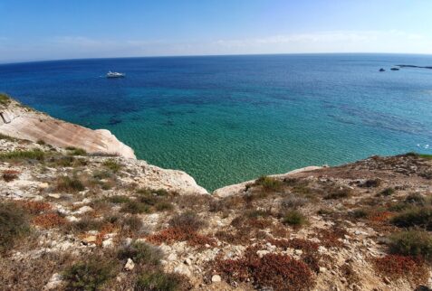
[[[80,261],[62,273],[67,290],[99,290],[113,276],[113,263],[106,258]]]

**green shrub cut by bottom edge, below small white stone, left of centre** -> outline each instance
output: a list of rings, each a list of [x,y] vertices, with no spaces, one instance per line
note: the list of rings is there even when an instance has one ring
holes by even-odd
[[[136,291],[175,291],[182,284],[182,277],[176,274],[167,274],[162,270],[153,270],[139,275]]]

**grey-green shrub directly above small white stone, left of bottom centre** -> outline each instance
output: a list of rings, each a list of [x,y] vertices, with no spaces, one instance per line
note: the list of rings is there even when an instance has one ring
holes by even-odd
[[[134,263],[138,264],[157,266],[160,264],[163,254],[160,249],[148,243],[134,242],[130,246],[120,249],[118,257],[120,259],[131,258]]]

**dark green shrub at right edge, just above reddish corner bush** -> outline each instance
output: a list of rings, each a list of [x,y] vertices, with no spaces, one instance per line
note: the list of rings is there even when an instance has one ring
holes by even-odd
[[[432,260],[432,237],[424,230],[407,230],[389,237],[389,251],[402,256]]]

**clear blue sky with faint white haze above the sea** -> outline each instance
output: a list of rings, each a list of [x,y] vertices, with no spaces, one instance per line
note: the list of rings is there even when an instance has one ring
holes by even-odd
[[[0,62],[432,53],[432,0],[0,0]]]

